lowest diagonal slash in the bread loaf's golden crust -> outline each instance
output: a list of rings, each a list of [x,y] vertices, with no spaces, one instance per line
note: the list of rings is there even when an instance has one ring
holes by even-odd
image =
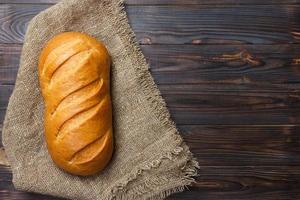
[[[96,143],[102,141],[102,140],[107,140],[109,137],[109,134],[111,132],[111,127],[108,127],[108,129],[105,131],[105,134],[101,135],[100,137],[96,138],[95,140],[93,140],[92,142],[86,144],[84,147],[82,147],[79,151],[75,152],[72,157],[69,160],[69,164],[85,164],[91,160],[93,160],[96,156],[98,156],[103,149],[105,148],[106,142],[101,142],[101,146],[97,149],[96,152],[94,152],[93,156],[89,157],[86,160],[83,161],[78,161],[78,158],[81,157],[82,154],[84,154],[84,152],[89,151],[89,149]]]

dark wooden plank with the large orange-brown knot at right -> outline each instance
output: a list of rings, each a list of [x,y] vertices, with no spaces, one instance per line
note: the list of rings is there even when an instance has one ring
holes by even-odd
[[[141,47],[159,85],[219,84],[247,91],[300,89],[299,44]],[[0,44],[0,84],[14,84],[21,48],[18,44]],[[245,89],[245,85],[249,87]]]

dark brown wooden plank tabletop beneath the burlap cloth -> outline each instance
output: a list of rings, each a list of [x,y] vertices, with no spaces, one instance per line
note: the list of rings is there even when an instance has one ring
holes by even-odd
[[[57,0],[0,0],[0,129],[28,21]],[[169,199],[300,199],[300,0],[127,0],[172,118],[202,166]],[[0,140],[1,147],[1,140]],[[56,199],[14,190],[0,199]]]

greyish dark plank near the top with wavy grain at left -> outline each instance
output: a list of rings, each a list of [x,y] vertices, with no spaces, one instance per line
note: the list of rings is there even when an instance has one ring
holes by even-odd
[[[50,5],[1,4],[0,42],[22,43],[28,21]],[[300,38],[298,5],[127,6],[141,44],[282,44]]]

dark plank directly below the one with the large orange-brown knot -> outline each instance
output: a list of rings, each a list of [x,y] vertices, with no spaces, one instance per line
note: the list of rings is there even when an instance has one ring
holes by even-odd
[[[294,124],[300,123],[299,92],[201,91],[198,85],[183,85],[180,91],[159,86],[177,124]],[[3,121],[13,86],[0,86],[0,121]],[[192,91],[190,93],[190,91]]]

